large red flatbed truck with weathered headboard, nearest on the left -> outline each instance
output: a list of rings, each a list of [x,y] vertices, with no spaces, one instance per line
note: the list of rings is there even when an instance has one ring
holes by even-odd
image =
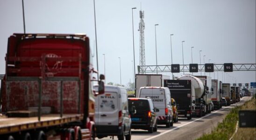
[[[97,71],[86,35],[13,34],[5,61],[1,140],[94,139]],[[103,94],[104,83],[97,82]]]

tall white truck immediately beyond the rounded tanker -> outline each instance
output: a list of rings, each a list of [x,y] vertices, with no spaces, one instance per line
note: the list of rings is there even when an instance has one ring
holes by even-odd
[[[204,101],[206,102],[206,113],[209,113],[213,110],[212,105],[212,78],[208,76],[195,76],[198,77],[204,84],[205,90],[204,90]]]

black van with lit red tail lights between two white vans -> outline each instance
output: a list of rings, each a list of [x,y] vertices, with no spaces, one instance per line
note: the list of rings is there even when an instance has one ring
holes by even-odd
[[[150,98],[128,98],[128,108],[133,129],[144,129],[149,133],[157,131],[156,112],[159,109],[154,107]]]

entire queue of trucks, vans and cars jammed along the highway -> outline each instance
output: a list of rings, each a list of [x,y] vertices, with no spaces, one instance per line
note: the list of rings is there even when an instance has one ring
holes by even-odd
[[[95,80],[91,59],[86,35],[11,35],[0,140],[131,140],[132,129],[153,133],[179,117],[202,117],[240,101],[239,87],[189,75],[137,74],[135,96],[128,98],[125,88],[104,85],[104,75]]]

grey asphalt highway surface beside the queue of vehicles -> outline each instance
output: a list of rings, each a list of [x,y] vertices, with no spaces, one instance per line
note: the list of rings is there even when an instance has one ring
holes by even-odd
[[[201,118],[186,120],[186,118],[180,117],[178,123],[174,123],[170,128],[166,128],[164,125],[159,125],[158,130],[155,133],[148,133],[148,131],[140,129],[132,129],[132,140],[194,140],[204,133],[210,133],[233,107],[244,104],[244,102],[250,100],[250,98],[251,97],[243,97],[240,102],[230,106],[224,106]],[[98,140],[117,140],[117,137],[114,137],[114,139],[112,137],[105,137]]]

